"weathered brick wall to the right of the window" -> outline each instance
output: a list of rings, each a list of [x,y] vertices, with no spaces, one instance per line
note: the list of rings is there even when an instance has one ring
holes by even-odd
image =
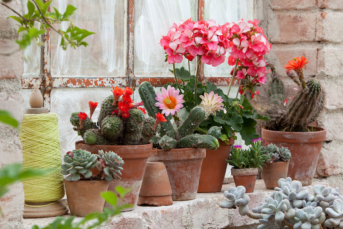
[[[327,92],[318,126],[327,129],[317,165],[318,176],[343,172],[343,1],[256,0],[255,17],[273,44],[268,61],[273,63],[288,88],[284,64],[296,56],[309,58],[304,73],[316,75]]]

